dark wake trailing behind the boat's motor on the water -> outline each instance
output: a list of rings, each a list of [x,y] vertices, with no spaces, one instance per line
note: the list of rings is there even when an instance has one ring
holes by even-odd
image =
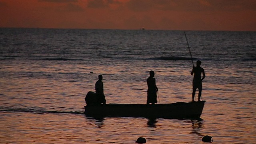
[[[62,114],[84,114],[84,112],[77,111],[48,111],[48,110],[34,110],[31,108],[0,108],[0,111],[5,112],[33,112],[33,113],[62,113]]]

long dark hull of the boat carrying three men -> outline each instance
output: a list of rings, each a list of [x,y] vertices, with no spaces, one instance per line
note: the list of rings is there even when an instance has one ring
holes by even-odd
[[[200,118],[204,102],[171,104],[90,104],[84,106],[86,116],[142,118]]]

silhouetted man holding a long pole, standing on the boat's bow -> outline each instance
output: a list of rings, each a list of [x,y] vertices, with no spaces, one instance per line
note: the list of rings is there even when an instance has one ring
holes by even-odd
[[[194,79],[193,79],[193,92],[192,92],[192,101],[194,102],[194,97],[195,97],[195,92],[196,89],[198,88],[198,101],[200,101],[201,94],[202,94],[202,80],[205,78],[205,73],[204,69],[200,67],[201,61],[198,60],[196,61],[196,67],[193,66],[193,70],[191,72],[191,75],[194,74]],[[203,77],[201,79],[201,74],[203,74]]]

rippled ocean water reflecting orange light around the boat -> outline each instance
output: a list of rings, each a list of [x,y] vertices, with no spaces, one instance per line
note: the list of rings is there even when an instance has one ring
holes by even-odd
[[[0,28],[1,144],[252,144],[256,141],[256,32]],[[106,103],[192,101],[202,61],[200,119],[91,118],[84,98],[102,74]],[[196,100],[198,98],[196,92]]]

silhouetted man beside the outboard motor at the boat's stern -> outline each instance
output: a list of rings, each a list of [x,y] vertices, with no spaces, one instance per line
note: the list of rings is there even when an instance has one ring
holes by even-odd
[[[98,97],[98,101],[100,102],[100,104],[106,104],[104,90],[103,90],[102,75],[100,74],[98,78],[99,80],[95,83],[96,96]]]

